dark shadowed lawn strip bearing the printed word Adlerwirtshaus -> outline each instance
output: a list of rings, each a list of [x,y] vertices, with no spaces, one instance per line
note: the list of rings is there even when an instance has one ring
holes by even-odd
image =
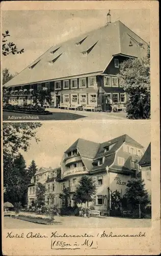
[[[72,113],[52,112],[52,115],[21,114],[16,112],[3,112],[3,121],[29,121],[29,120],[76,120],[86,116]]]

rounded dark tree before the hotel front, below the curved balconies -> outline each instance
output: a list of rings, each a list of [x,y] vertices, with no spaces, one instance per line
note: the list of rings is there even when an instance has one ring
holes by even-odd
[[[92,196],[96,193],[96,185],[92,179],[88,176],[83,176],[76,187],[76,192],[74,194],[74,201],[76,203],[86,203],[89,207],[89,202],[92,202]]]

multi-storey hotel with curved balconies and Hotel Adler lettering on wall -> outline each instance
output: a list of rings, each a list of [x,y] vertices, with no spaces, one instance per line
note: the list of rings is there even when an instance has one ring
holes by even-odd
[[[139,161],[144,156],[144,148],[128,135],[96,143],[77,139],[64,152],[61,166],[58,168],[41,167],[28,187],[28,205],[36,200],[37,182],[46,187],[45,205],[57,204],[63,188],[70,189],[70,206],[74,206],[73,195],[82,176],[88,175],[96,184],[96,195],[90,205],[102,210],[104,196],[119,191],[121,197],[125,194],[129,179],[135,178],[141,172]],[[144,177],[145,178],[145,177]],[[145,180],[146,182],[146,180]],[[50,197],[54,195],[54,197]]]

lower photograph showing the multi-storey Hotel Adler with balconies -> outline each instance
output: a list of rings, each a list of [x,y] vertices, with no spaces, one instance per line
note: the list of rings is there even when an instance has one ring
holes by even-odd
[[[151,226],[150,123],[3,124],[4,228]]]

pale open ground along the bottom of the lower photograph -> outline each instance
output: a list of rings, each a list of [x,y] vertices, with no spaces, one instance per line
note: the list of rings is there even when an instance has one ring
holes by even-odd
[[[56,222],[52,225],[43,225],[32,223],[24,220],[13,219],[10,217],[4,218],[4,228],[125,228],[125,227],[151,227],[151,219],[126,219],[126,218],[83,218],[75,216],[56,216]]]

